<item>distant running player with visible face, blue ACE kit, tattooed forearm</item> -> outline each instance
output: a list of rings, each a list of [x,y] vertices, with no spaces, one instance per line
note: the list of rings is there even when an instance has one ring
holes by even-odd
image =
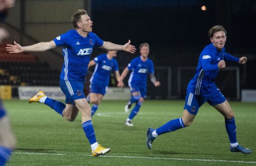
[[[124,122],[124,125],[127,125],[127,126],[133,126],[133,124],[131,123],[131,120],[139,112],[139,109],[141,108],[141,105],[146,97],[148,74],[154,86],[155,87],[160,86],[160,82],[157,81],[154,75],[154,64],[148,58],[148,55],[149,55],[148,43],[142,43],[140,45],[140,53],[141,55],[139,57],[132,59],[132,61],[124,69],[118,84],[118,86],[121,86],[128,72],[132,71],[128,80],[128,85],[131,90],[131,99],[128,101],[127,105],[125,106],[124,111],[129,112],[132,106],[132,103],[136,103],[136,105],[132,109],[132,112]]]

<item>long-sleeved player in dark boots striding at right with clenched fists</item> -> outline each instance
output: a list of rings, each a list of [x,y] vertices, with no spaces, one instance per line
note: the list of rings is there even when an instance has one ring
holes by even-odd
[[[159,135],[190,126],[196,117],[198,109],[205,102],[208,102],[224,116],[226,132],[230,140],[230,151],[243,154],[252,153],[251,149],[243,148],[238,144],[234,112],[224,95],[215,85],[215,78],[218,72],[226,67],[225,61],[235,61],[240,64],[247,62],[246,57],[236,58],[225,52],[226,34],[226,30],[221,25],[216,25],[209,29],[208,35],[211,44],[202,50],[195,76],[188,83],[183,116],[171,120],[157,129],[149,128],[146,140],[149,149],[151,149],[154,139]]]

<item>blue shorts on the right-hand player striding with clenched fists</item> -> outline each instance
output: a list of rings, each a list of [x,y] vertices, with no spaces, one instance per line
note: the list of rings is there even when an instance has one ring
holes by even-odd
[[[211,94],[207,96],[195,95],[190,91],[187,91],[186,95],[186,103],[184,109],[187,109],[189,113],[196,115],[198,109],[203,105],[206,101],[211,105],[222,104],[226,100],[225,96],[222,95],[221,91],[214,87],[212,89]]]

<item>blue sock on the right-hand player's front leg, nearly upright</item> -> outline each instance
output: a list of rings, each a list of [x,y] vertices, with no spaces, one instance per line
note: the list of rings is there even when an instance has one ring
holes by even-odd
[[[229,137],[230,143],[236,143],[236,126],[235,126],[235,118],[225,119],[226,132]]]

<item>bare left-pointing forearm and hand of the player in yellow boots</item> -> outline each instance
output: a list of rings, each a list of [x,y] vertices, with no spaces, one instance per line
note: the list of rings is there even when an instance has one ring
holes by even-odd
[[[34,45],[30,46],[21,46],[17,42],[14,41],[14,45],[8,44],[6,47],[6,50],[9,53],[21,53],[21,52],[27,52],[27,51],[46,51],[52,48],[55,48],[55,42],[40,42]]]

